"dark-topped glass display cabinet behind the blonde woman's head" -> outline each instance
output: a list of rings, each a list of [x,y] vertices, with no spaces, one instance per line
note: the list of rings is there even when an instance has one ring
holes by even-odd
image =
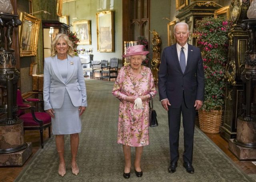
[[[70,26],[56,20],[42,20],[44,57],[50,57],[51,42],[54,40],[56,35],[59,33],[68,34],[69,27]]]

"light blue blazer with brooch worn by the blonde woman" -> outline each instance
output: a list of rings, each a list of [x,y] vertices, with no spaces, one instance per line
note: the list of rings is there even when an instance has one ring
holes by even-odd
[[[87,107],[86,87],[80,58],[68,55],[68,75],[63,81],[57,55],[44,59],[44,110],[60,109],[65,89],[75,107]]]

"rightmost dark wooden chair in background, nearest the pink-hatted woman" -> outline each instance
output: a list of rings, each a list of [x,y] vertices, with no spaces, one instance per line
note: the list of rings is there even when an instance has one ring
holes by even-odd
[[[109,66],[102,67],[102,71],[101,71],[102,79],[107,78],[110,81],[110,78],[116,78],[117,77],[118,62],[119,62],[119,59],[114,57],[114,58],[110,59],[110,65]],[[106,75],[103,75],[103,73],[106,73]]]

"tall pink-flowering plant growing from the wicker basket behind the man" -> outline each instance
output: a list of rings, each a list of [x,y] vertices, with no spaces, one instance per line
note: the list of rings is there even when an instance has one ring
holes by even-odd
[[[204,18],[194,30],[193,37],[201,48],[205,77],[205,111],[224,105],[224,72],[228,58],[228,30],[231,22],[224,17]]]

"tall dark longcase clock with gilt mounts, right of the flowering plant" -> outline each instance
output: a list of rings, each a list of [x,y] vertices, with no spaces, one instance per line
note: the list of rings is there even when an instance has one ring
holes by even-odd
[[[231,0],[230,11],[233,22],[228,32],[228,62],[226,64],[226,94],[224,120],[220,128],[220,136],[225,140],[236,138],[237,118],[242,115],[244,97],[244,84],[241,73],[245,68],[245,52],[248,44],[248,34],[241,28],[242,20],[247,19],[249,0]]]

